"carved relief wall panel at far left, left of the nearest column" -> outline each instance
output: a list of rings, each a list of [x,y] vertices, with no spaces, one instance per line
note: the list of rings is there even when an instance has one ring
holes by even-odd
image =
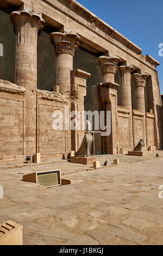
[[[23,102],[0,99],[0,156],[23,154]]]

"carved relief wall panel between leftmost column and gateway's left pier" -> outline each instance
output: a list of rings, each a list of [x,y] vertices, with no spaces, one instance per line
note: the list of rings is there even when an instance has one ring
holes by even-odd
[[[63,130],[54,130],[54,111],[63,112],[62,108],[53,105],[40,104],[39,118],[39,148],[40,153],[60,153],[65,152],[65,133]]]

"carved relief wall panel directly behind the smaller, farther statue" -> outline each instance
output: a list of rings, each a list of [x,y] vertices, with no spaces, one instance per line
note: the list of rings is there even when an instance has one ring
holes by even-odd
[[[134,119],[134,146],[143,138],[143,120]]]

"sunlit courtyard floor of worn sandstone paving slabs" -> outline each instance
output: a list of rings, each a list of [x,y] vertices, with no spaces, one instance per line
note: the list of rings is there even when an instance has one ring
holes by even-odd
[[[108,166],[68,162],[0,171],[0,223],[23,225],[24,245],[162,245],[163,152],[146,157],[98,156]],[[34,170],[61,169],[72,184],[43,188],[22,181]],[[86,171],[88,170],[88,171]],[[163,194],[162,194],[163,195]]]

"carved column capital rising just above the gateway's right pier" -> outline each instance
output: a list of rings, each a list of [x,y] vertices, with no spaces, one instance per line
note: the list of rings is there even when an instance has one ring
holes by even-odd
[[[117,56],[101,56],[98,59],[102,68],[103,81],[114,82],[114,75],[117,72],[117,64],[120,61],[120,58]]]

